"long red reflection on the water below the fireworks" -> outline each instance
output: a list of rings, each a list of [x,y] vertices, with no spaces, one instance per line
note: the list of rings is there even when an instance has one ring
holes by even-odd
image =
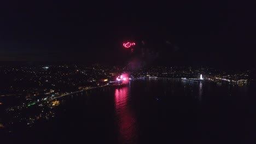
[[[115,112],[119,128],[119,141],[136,141],[136,119],[132,115],[127,103],[129,101],[130,89],[128,87],[115,89]],[[131,141],[132,140],[132,141]]]

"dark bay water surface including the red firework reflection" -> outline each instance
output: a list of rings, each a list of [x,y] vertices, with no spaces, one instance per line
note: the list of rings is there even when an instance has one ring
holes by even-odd
[[[20,129],[35,143],[254,143],[253,86],[135,80],[61,100],[56,118]]]

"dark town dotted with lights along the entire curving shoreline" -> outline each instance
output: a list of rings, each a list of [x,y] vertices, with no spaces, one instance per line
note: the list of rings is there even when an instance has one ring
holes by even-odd
[[[25,122],[30,125],[36,120],[54,117],[53,107],[59,105],[59,101],[51,99],[104,86],[124,72],[130,74],[130,79],[166,77],[233,85],[246,85],[251,73],[249,70],[217,70],[207,67],[149,66],[136,71],[126,71],[121,66],[106,67],[98,64],[0,66],[0,110],[5,111],[8,117],[5,121],[9,124]],[[4,120],[0,118],[0,123],[1,121]]]

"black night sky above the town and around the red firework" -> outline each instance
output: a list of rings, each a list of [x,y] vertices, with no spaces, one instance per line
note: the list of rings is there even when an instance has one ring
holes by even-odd
[[[8,1],[1,4],[0,61],[127,61],[124,41],[156,62],[255,67],[254,3],[236,1]],[[173,49],[175,45],[175,49]]]

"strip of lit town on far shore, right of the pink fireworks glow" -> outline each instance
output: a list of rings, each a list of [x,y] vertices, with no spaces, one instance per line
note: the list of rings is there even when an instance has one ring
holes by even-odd
[[[168,77],[168,78],[186,78],[202,79],[213,82],[247,83],[250,79],[250,70],[218,70],[202,67],[145,67],[132,74],[132,77]]]

